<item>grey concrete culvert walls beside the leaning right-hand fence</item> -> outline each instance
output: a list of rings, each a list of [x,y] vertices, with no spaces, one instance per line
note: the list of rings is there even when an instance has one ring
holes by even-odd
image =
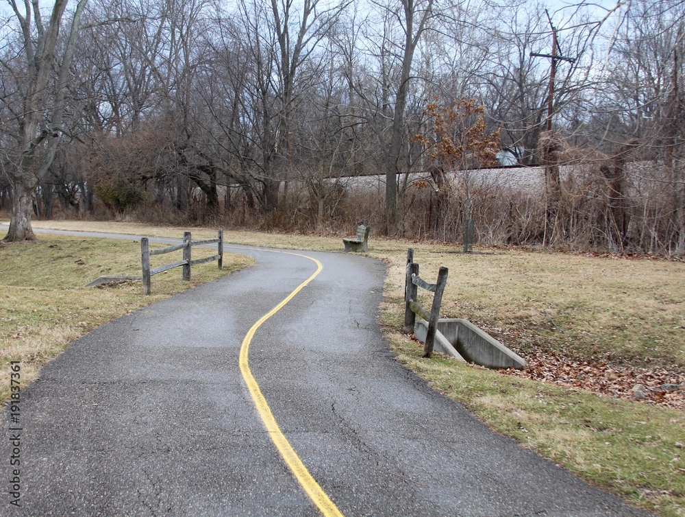
[[[428,322],[416,320],[414,337],[425,342]],[[438,320],[434,350],[487,368],[516,368],[523,370],[526,362],[497,339],[484,332],[469,320],[445,318]]]

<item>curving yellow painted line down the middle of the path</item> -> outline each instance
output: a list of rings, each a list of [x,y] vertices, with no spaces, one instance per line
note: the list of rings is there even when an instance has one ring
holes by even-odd
[[[297,253],[287,254],[302,256],[305,259],[314,261],[314,263],[316,263],[317,266],[316,272],[314,272],[312,276],[310,276],[309,278],[307,278],[307,280],[305,280],[299,286],[297,286],[297,289],[295,289],[295,291],[292,291],[292,293],[290,293],[288,297],[285,298],[285,300],[283,300],[277,306],[271,309],[269,313],[266,313],[264,316],[260,317],[258,322],[256,322],[256,324],[254,324],[252,328],[250,328],[247,335],[245,336],[245,339],[242,340],[242,345],[240,346],[240,372],[242,373],[242,378],[245,379],[247,389],[249,389],[250,395],[252,396],[252,400],[254,401],[257,410],[259,411],[260,416],[262,417],[262,421],[266,426],[266,431],[268,431],[269,436],[271,436],[271,440],[273,441],[273,444],[278,449],[278,452],[281,453],[281,456],[288,465],[288,468],[290,468],[292,474],[295,476],[299,484],[302,486],[303,490],[307,493],[308,496],[310,496],[316,507],[319,508],[319,511],[325,517],[342,517],[343,514],[340,513],[338,507],[336,507],[333,501],[330,500],[330,498],[328,497],[326,492],[323,491],[323,488],[321,488],[319,483],[316,483],[316,479],[314,479],[314,477],[312,477],[312,474],[309,473],[309,470],[307,470],[306,466],[304,466],[302,460],[299,459],[299,456],[297,455],[297,453],[295,453],[295,449],[292,448],[290,442],[288,442],[288,439],[281,431],[280,427],[276,422],[276,419],[273,417],[273,413],[271,413],[271,408],[269,407],[269,404],[266,403],[266,398],[264,398],[262,390],[257,384],[257,381],[255,380],[254,376],[252,375],[248,363],[250,343],[257,329],[262,325],[262,323],[264,323],[266,320],[269,320],[271,316],[280,311],[288,302],[290,302],[290,300],[292,300],[292,298],[295,297],[295,295],[299,293],[299,291],[301,291],[306,285],[308,285],[309,282],[314,280],[314,278],[316,278],[316,276],[319,273],[321,273],[321,270],[323,269],[323,265],[321,265],[321,262],[317,261],[316,259],[312,259],[312,257],[310,256],[300,255]]]

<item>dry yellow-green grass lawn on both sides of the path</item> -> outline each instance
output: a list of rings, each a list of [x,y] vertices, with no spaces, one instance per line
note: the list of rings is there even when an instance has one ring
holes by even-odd
[[[181,237],[188,229],[78,221],[34,224],[41,226],[159,237]],[[214,230],[191,230],[194,239],[214,237]],[[20,357],[32,365],[32,375],[90,328],[189,287],[175,269],[163,278],[153,277],[149,297],[140,295],[139,282],[84,289],[99,275],[139,274],[139,244],[39,237],[38,243],[0,248],[2,358],[6,363]],[[342,249],[338,237],[225,232],[225,240]],[[370,256],[388,263],[379,320],[399,361],[495,431],[590,483],[658,515],[685,516],[685,408],[673,409],[680,407],[677,395],[685,390],[659,391],[664,379],[685,383],[685,263],[486,248],[461,254],[456,246],[373,235],[370,246]],[[481,326],[542,370],[545,382],[439,354],[421,359],[421,346],[400,333],[408,247],[414,248],[414,260],[428,281],[434,281],[440,266],[449,267],[443,317],[465,317]],[[119,259],[111,258],[115,248]],[[228,270],[248,262],[224,260]],[[36,274],[38,265],[48,273]],[[202,282],[219,272],[210,264],[197,267],[197,273],[194,268],[193,274],[193,282]],[[429,298],[420,301],[429,306]],[[565,377],[559,371],[547,376],[545,362],[552,360]],[[5,366],[2,372],[5,396],[8,371]],[[638,381],[653,397],[630,400],[625,387]]]

